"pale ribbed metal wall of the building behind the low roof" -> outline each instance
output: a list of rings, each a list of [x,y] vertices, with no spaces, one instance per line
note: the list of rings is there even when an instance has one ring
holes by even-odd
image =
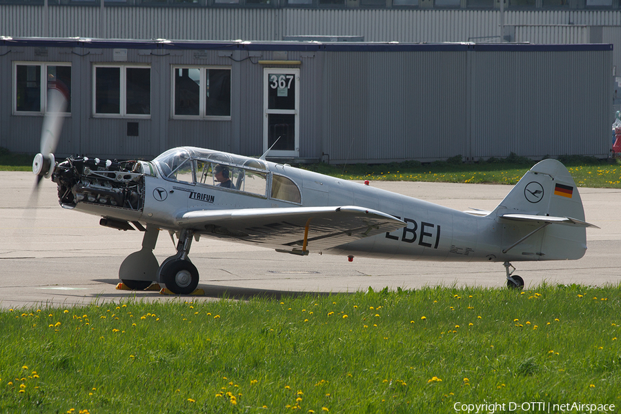
[[[279,41],[283,36],[364,36],[364,41],[498,41],[498,10],[0,6],[0,35]],[[506,11],[509,26],[621,26],[618,10]],[[534,28],[531,30],[535,30]],[[531,43],[575,43],[575,30],[529,32]],[[570,35],[569,32],[572,34]],[[535,40],[537,39],[537,40]],[[556,41],[555,39],[558,39]],[[587,39],[588,40],[588,39]]]

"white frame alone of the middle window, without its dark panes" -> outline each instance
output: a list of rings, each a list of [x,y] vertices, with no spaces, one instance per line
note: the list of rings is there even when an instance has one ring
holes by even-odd
[[[119,68],[119,113],[99,113],[97,112],[97,68]],[[148,69],[149,70],[149,113],[148,114],[128,114],[127,113],[127,70],[128,69]],[[148,63],[93,63],[92,64],[92,110],[93,118],[115,118],[115,119],[151,119],[152,109],[152,82],[151,65]]]

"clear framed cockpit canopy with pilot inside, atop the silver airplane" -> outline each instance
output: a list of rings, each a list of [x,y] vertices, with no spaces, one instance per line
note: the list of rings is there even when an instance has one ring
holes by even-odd
[[[301,202],[297,185],[282,175],[271,175],[261,159],[195,147],[172,148],[153,160],[166,179],[239,190],[244,193]]]

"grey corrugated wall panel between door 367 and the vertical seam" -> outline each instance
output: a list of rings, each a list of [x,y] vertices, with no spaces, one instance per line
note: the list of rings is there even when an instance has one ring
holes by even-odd
[[[326,54],[333,162],[466,154],[466,52]]]

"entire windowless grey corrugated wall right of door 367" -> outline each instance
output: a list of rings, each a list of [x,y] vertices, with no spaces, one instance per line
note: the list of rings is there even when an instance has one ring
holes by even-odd
[[[610,61],[602,52],[327,54],[325,147],[337,163],[606,156]]]

